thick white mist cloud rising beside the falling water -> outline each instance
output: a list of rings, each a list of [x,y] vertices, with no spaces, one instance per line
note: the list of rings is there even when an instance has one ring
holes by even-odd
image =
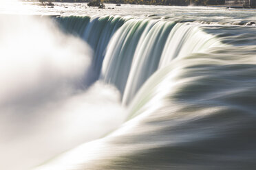
[[[23,170],[114,130],[118,90],[86,90],[89,47],[50,19],[0,16],[0,169]]]

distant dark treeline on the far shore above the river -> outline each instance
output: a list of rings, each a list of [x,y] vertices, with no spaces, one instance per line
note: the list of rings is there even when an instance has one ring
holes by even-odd
[[[30,0],[27,0],[30,1]],[[32,0],[33,1],[33,0]],[[40,0],[41,2],[89,2],[91,0]],[[94,0],[103,3],[130,3],[144,5],[223,5],[225,0]]]

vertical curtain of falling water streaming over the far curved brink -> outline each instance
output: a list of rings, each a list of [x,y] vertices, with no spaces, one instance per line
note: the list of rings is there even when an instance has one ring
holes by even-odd
[[[199,24],[121,16],[68,16],[58,21],[94,49],[96,77],[120,90],[123,105],[173,59],[222,45]]]

